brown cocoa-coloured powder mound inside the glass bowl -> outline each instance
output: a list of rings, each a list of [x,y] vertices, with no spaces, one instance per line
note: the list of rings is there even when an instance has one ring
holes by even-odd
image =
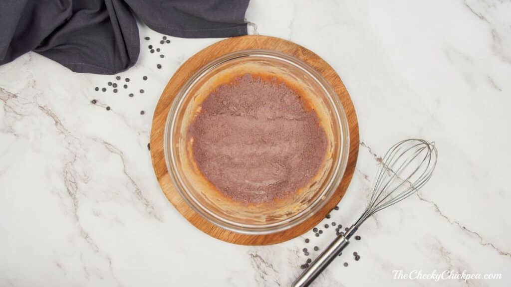
[[[283,198],[318,172],[327,136],[314,111],[276,79],[246,74],[217,87],[189,127],[201,173],[246,204]]]

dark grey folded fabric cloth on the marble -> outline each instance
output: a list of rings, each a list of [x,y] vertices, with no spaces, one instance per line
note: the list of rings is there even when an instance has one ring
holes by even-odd
[[[249,0],[1,0],[0,65],[34,51],[78,73],[115,74],[135,64],[135,16],[184,38],[247,34]]]

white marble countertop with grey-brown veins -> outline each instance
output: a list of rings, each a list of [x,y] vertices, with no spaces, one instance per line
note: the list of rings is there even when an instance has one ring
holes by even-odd
[[[246,17],[326,59],[357,109],[355,176],[323,224],[353,223],[392,143],[422,137],[439,150],[420,195],[368,220],[315,285],[511,285],[511,2],[252,0]],[[161,59],[147,49],[160,37],[141,26],[141,57],[118,93],[94,90],[114,76],[34,53],[0,66],[0,286],[287,286],[308,258],[301,249],[314,257],[334,237],[331,227],[274,246],[227,244],[166,200],[146,146],[152,111],[178,66],[218,39],[170,37]]]

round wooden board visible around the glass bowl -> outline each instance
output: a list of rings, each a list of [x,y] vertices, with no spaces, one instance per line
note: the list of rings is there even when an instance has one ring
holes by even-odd
[[[181,86],[203,65],[227,53],[246,49],[268,49],[294,56],[316,69],[332,85],[346,112],[350,127],[350,155],[342,181],[330,201],[309,220],[282,232],[267,235],[246,235],[218,227],[193,211],[177,193],[167,171],[164,155],[165,122],[170,106]],[[184,62],[170,79],[154,111],[151,128],[151,158],[156,178],[167,199],[195,227],[220,240],[242,245],[268,245],[281,243],[301,235],[317,225],[341,200],[351,182],[358,157],[359,134],[357,115],[341,79],[323,59],[305,47],[293,42],[268,36],[242,36],[225,39],[198,52]]]

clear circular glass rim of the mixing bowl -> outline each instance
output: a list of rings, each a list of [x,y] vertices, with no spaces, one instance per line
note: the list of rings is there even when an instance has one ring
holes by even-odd
[[[178,111],[182,108],[182,104],[184,100],[187,98],[186,96],[189,94],[189,91],[194,86],[194,83],[196,83],[203,75],[207,74],[208,71],[211,71],[212,69],[222,65],[223,63],[244,57],[267,57],[272,58],[274,60],[276,59],[284,61],[287,62],[288,64],[292,64],[298,67],[302,72],[308,74],[320,85],[320,87],[328,95],[327,98],[329,99],[330,104],[334,107],[335,120],[338,121],[340,129],[339,158],[336,162],[334,162],[335,166],[332,176],[328,180],[328,183],[321,189],[320,195],[317,196],[317,198],[314,201],[312,201],[307,206],[307,208],[304,208],[303,210],[294,214],[292,217],[282,221],[264,225],[243,224],[222,218],[218,216],[218,214],[212,212],[211,210],[204,208],[202,204],[200,204],[200,202],[198,202],[197,199],[195,199],[190,193],[183,190],[186,189],[186,187],[181,179],[181,175],[179,175],[178,168],[176,166],[177,163],[175,159],[175,154],[173,152],[175,147],[174,145],[170,144],[173,142],[174,139],[174,129]],[[195,73],[187,81],[185,81],[183,85],[179,88],[179,91],[176,94],[169,109],[169,112],[167,114],[164,129],[165,163],[169,175],[171,177],[172,183],[180,197],[183,199],[183,201],[187,203],[187,205],[190,208],[192,208],[192,210],[198,213],[199,216],[204,218],[206,221],[213,223],[214,225],[220,228],[248,235],[265,235],[284,231],[286,229],[299,225],[300,223],[303,223],[304,221],[314,216],[314,214],[317,211],[321,210],[321,208],[335,194],[335,191],[337,190],[344,176],[349,157],[349,148],[350,148],[350,129],[347,123],[346,113],[344,111],[344,107],[340,101],[338,94],[335,92],[334,88],[330,85],[330,83],[316,69],[314,69],[312,66],[310,66],[303,60],[280,51],[268,49],[245,49],[230,52],[213,59],[212,61],[204,64],[201,68],[196,70]]]

